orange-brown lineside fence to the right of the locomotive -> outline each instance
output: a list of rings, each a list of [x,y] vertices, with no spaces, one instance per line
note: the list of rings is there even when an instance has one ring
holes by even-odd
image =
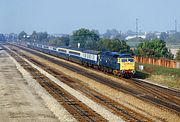
[[[164,66],[168,68],[178,68],[180,69],[180,62],[174,60],[167,60],[167,59],[156,59],[156,58],[148,58],[148,57],[134,57],[136,62],[144,63],[144,64],[153,64]]]

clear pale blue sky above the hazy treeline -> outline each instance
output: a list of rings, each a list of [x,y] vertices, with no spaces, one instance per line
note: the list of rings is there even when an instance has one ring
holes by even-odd
[[[0,0],[0,33],[180,30],[180,0]],[[179,24],[178,24],[179,23]]]

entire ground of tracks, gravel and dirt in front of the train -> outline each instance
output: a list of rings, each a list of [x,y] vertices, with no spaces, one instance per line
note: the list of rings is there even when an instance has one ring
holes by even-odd
[[[180,91],[27,47],[0,50],[1,121],[180,121]]]

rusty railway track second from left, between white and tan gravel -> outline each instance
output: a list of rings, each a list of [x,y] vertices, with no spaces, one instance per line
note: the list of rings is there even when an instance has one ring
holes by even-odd
[[[14,50],[14,51],[16,51],[16,50]],[[27,55],[24,55],[20,52],[18,52],[18,54],[25,57],[26,59],[28,59],[30,62],[34,63],[35,65],[41,67],[42,69],[44,69],[51,75],[55,76],[61,82],[64,82],[71,88],[81,91],[83,94],[85,94],[87,97],[91,98],[93,101],[100,103],[104,107],[108,108],[112,113],[114,113],[118,116],[121,116],[124,120],[132,121],[132,122],[134,122],[134,121],[138,121],[138,122],[152,121],[151,119],[135,112],[134,110],[131,110],[131,109],[117,103],[116,101],[96,92],[95,90],[87,87],[86,85],[84,85],[82,83],[82,81],[71,78],[71,77],[65,75],[64,73],[60,72],[59,70],[57,70],[53,67],[46,66],[45,64],[37,61],[36,59],[33,59],[33,58],[31,58]]]

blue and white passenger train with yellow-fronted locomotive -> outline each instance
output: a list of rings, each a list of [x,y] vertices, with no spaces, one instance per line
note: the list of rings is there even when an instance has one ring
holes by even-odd
[[[27,47],[80,65],[96,68],[118,77],[131,78],[135,74],[135,61],[130,54],[65,46],[54,47],[38,43],[27,43]]]

